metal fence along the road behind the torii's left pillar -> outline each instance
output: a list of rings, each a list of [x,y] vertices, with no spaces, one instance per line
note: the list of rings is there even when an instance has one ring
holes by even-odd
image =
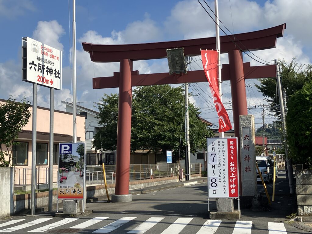
[[[185,174],[185,165],[180,164]],[[151,174],[152,170],[152,174]],[[105,165],[106,183],[114,183],[116,165]],[[129,169],[129,180],[144,180],[151,178],[170,177],[178,175],[177,163],[159,163],[159,164],[131,164]],[[191,175],[200,173],[200,163],[191,164]],[[102,166],[87,166],[85,173],[86,184],[104,184]]]

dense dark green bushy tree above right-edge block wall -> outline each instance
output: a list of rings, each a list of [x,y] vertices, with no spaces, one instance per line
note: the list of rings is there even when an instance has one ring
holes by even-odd
[[[294,163],[312,168],[312,81],[290,96],[286,116],[287,141]]]

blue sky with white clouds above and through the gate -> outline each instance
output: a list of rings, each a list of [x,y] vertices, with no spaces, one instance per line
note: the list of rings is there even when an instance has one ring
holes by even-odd
[[[205,3],[201,0],[202,4]],[[213,1],[206,1],[214,9]],[[297,57],[299,64],[311,63],[312,47],[312,1],[304,0],[219,0],[219,18],[234,33],[260,30],[286,23],[285,35],[278,38],[275,49],[254,52],[261,59],[274,58],[290,62]],[[209,9],[207,8],[209,11]],[[32,37],[63,51],[62,90],[55,91],[55,108],[64,110],[61,100],[72,100],[71,91],[71,48],[72,48],[72,0],[0,0],[1,55],[0,56],[0,98],[14,95],[20,100],[23,95],[32,100],[32,85],[21,77],[21,39]],[[185,1],[105,1],[76,0],[76,55],[77,55],[77,101],[93,108],[93,102],[103,93],[117,92],[117,89],[93,90],[92,77],[112,76],[119,71],[118,63],[93,64],[89,54],[82,50],[81,42],[98,44],[132,44],[142,42],[172,41],[215,36],[214,22],[196,0]],[[220,32],[222,35],[222,32]],[[70,45],[71,43],[71,45]],[[222,55],[227,63],[227,55]],[[197,59],[198,60],[198,59]],[[244,61],[259,65],[244,56]],[[201,62],[193,62],[192,70],[199,70]],[[135,61],[134,69],[140,74],[168,71],[166,60]],[[257,92],[256,80],[246,80],[247,104],[265,103]],[[223,83],[223,103],[232,116],[231,90]],[[207,84],[198,83],[207,91],[192,101],[202,108],[202,117],[217,124],[217,117],[211,108],[212,99]],[[196,93],[197,85],[190,91]],[[194,89],[194,90],[192,90]],[[202,100],[209,100],[203,103]],[[38,105],[48,107],[49,89],[38,89]],[[250,110],[256,117],[257,127],[261,123],[260,109]],[[231,117],[232,119],[232,117]],[[272,119],[266,116],[266,122]]]

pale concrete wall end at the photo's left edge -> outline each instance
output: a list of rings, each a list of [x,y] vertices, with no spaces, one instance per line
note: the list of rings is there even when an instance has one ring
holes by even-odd
[[[0,167],[0,218],[14,213],[13,210],[13,168]]]

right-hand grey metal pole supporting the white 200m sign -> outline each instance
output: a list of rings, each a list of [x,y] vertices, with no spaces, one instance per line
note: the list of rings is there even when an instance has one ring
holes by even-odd
[[[53,203],[54,88],[50,88],[49,211]]]

